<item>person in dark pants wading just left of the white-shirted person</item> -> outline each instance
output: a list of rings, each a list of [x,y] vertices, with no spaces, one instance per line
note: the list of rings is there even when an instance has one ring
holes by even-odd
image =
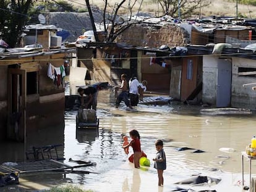
[[[115,91],[121,90],[121,93],[118,94],[118,96],[116,98],[116,108],[119,107],[119,104],[121,101],[124,101],[124,103],[126,104],[127,107],[129,107],[130,109],[133,109],[132,106],[130,105],[130,101],[128,99],[129,86],[128,86],[126,77],[127,77],[126,74],[122,74],[121,75],[121,80],[122,80],[121,86],[115,87]]]

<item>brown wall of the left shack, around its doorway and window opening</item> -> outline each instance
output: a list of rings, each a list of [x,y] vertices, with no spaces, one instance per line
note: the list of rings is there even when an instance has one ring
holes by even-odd
[[[35,94],[27,93],[26,106],[26,127],[27,131],[39,128],[45,128],[53,125],[63,125],[64,127],[64,81],[57,86],[53,80],[48,77],[48,67],[51,63],[54,67],[60,67],[64,64],[66,53],[25,57],[20,59],[8,59],[2,61],[0,65],[0,141],[7,136],[7,118],[8,118],[8,67],[11,64],[19,64],[20,69],[25,69],[27,75],[30,72],[38,72],[35,78],[35,84],[38,84],[38,92]],[[27,84],[28,86],[29,84]]]

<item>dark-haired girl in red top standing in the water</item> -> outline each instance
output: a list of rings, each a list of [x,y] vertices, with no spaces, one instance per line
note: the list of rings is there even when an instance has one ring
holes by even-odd
[[[140,168],[140,157],[142,157],[142,150],[140,149],[140,134],[137,130],[131,130],[129,133],[132,140],[122,148],[125,149],[132,146],[132,149],[134,149],[134,167]]]

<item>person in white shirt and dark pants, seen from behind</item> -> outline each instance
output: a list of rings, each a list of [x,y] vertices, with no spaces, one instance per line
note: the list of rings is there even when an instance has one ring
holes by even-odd
[[[136,77],[132,77],[129,80],[129,96],[130,96],[130,105],[137,106],[139,103],[139,85],[140,82]]]

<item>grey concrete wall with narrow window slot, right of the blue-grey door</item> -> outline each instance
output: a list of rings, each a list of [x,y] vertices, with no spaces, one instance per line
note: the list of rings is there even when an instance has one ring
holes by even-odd
[[[247,83],[256,83],[255,77],[249,76],[237,76],[238,68],[255,68],[255,60],[244,59],[238,57],[232,57],[233,62],[233,74],[232,74],[232,92],[231,92],[231,105],[233,107],[247,108],[256,110],[256,91],[252,90],[252,86],[249,85],[243,87],[242,85]]]

